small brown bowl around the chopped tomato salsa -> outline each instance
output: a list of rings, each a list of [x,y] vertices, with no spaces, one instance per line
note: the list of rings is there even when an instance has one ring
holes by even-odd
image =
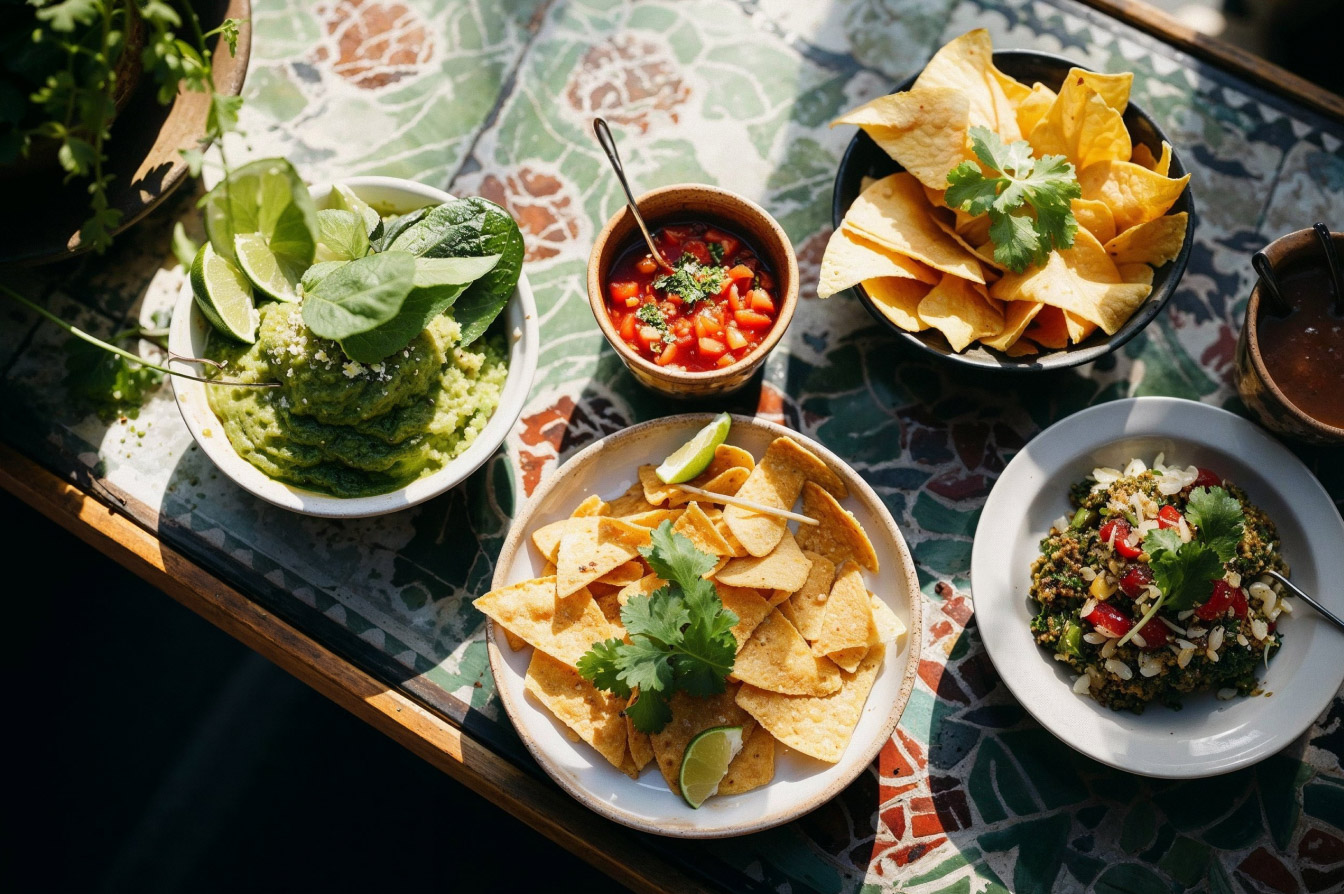
[[[737,391],[765,362],[784,337],[798,305],[798,259],[784,229],[757,203],[718,187],[683,183],[645,192],[636,202],[649,230],[677,220],[706,220],[737,230],[770,265],[781,296],[780,317],[765,340],[747,356],[722,370],[687,372],[661,367],[640,356],[621,337],[606,312],[606,278],[630,242],[638,239],[634,215],[625,206],[617,211],[593,243],[589,254],[589,307],[602,335],[636,380],[673,398],[707,398]]]

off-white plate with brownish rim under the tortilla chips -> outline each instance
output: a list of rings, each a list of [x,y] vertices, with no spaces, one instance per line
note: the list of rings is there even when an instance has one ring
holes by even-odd
[[[636,425],[581,450],[542,485],[519,515],[495,567],[496,589],[540,577],[543,561],[531,546],[531,534],[550,522],[569,518],[590,493],[612,499],[624,493],[645,462],[661,462],[704,426],[711,414],[675,415]],[[509,649],[503,632],[489,625],[491,671],[519,735],[532,756],[575,799],[613,819],[646,832],[677,838],[726,838],[746,835],[786,823],[824,804],[868,766],[900,719],[910,698],[921,636],[919,586],[910,551],[882,500],[849,466],[809,438],[771,422],[732,417],[728,444],[759,458],[781,434],[805,445],[839,475],[849,488],[844,507],[855,514],[878,553],[879,575],[864,573],[868,589],[880,596],[905,621],[907,633],[900,651],[890,651],[864,704],[853,738],[837,764],[824,764],[775,747],[774,781],[745,795],[714,797],[691,809],[663,781],[657,766],[646,766],[632,780],[609,765],[583,742],[571,742],[566,731],[536,700],[524,694],[523,675],[532,649]]]

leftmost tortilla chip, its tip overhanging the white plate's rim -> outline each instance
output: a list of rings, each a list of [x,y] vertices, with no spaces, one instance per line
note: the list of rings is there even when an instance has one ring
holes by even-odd
[[[554,577],[491,590],[472,605],[532,648],[566,664],[578,664],[594,643],[617,636],[591,593],[579,589],[556,598]]]

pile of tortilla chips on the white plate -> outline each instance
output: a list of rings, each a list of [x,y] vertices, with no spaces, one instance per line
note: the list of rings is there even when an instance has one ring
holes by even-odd
[[[546,575],[487,593],[476,606],[517,651],[531,645],[526,690],[571,738],[591,745],[632,778],[656,761],[680,793],[681,757],[711,726],[741,725],[743,747],[719,795],[737,795],[774,777],[775,743],[836,762],[863,713],[886,648],[905,625],[864,583],[878,557],[863,527],[839,500],[844,483],[812,452],[777,438],[761,462],[720,445],[689,484],[778,510],[802,499],[818,524],[790,530],[785,519],[702,504],[663,484],[652,465],[610,503],[583,500],[569,519],[532,531]],[[706,575],[739,621],[738,655],[727,690],[712,698],[672,696],[672,721],[652,735],[625,718],[625,702],[579,676],[594,643],[624,636],[621,606],[663,586],[640,555],[663,522],[703,553],[719,557]],[[794,523],[797,524],[797,523]]]

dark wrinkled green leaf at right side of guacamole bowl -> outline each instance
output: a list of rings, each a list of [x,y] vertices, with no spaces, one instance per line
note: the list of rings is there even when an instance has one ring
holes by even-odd
[[[485,333],[508,304],[523,272],[523,234],[504,208],[481,198],[454,199],[430,211],[392,242],[392,249],[427,258],[500,255],[453,305],[462,346]]]

